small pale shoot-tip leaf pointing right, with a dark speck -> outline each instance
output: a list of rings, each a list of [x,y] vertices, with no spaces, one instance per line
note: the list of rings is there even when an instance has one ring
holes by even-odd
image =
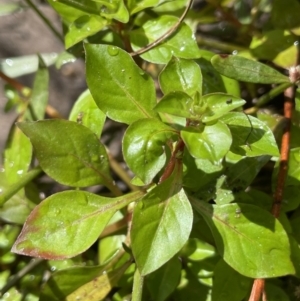
[[[210,122],[219,119],[226,113],[242,107],[246,101],[228,94],[212,93],[201,97],[201,101],[207,104],[207,112],[201,116],[202,122]]]

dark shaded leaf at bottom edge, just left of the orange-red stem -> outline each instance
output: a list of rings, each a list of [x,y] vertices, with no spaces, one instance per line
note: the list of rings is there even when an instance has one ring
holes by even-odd
[[[224,260],[220,260],[214,270],[211,301],[243,300],[251,284],[252,279],[239,274]]]

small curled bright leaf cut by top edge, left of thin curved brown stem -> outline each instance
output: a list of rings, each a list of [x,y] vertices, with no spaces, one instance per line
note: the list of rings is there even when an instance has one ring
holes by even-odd
[[[101,4],[100,15],[107,19],[116,19],[122,23],[129,21],[129,12],[124,0],[93,0]]]

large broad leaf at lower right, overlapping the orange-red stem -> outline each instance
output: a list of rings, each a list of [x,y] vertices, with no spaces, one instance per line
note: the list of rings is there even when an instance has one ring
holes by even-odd
[[[248,204],[191,201],[208,223],[220,255],[237,272],[251,278],[295,273],[288,236],[271,213]]]

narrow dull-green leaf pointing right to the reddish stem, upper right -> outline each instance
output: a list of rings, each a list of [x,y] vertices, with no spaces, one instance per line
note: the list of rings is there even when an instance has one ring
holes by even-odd
[[[218,54],[212,57],[211,63],[221,74],[239,81],[260,84],[290,82],[277,70],[237,55]]]

